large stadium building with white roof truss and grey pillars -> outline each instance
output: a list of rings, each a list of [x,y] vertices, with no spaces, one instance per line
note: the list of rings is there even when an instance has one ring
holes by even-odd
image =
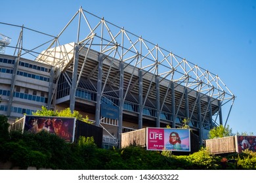
[[[235,97],[218,75],[82,8],[57,36],[0,26],[19,28],[17,44],[4,46],[13,54],[0,54],[0,114],[10,122],[41,106],[70,107],[103,127],[105,146],[118,146],[121,133],[177,128],[184,119],[202,144],[209,129],[226,125]],[[24,34],[44,41],[25,45]]]

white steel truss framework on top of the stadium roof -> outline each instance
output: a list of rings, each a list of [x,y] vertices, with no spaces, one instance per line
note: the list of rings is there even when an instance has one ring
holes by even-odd
[[[2,25],[10,25],[2,22],[0,23]],[[73,24],[76,25],[77,29],[75,29],[74,34],[70,34],[68,28],[72,27]],[[16,25],[13,26],[17,27]],[[150,98],[151,93],[157,93],[156,84],[154,83],[155,76],[160,77],[160,85],[163,82],[169,81],[169,84],[167,84],[167,90],[160,95],[160,110],[165,107],[167,97],[171,93],[171,90],[169,89],[171,82],[175,82],[175,88],[184,86],[186,88],[190,88],[190,91],[202,93],[201,97],[209,96],[213,101],[219,101],[221,107],[230,103],[228,116],[232,105],[234,104],[234,94],[228,89],[226,84],[224,84],[218,75],[215,75],[210,71],[191,63],[187,59],[181,58],[180,56],[161,48],[158,44],[146,41],[142,36],[137,36],[134,33],[125,30],[124,27],[119,27],[104,20],[104,18],[99,18],[98,16],[83,10],[81,7],[56,37],[39,31],[34,31],[24,27],[23,25],[20,27],[22,27],[23,33],[24,31],[32,31],[33,33],[39,33],[48,39],[47,42],[43,42],[39,44],[39,46],[37,45],[33,48],[25,48],[23,45],[20,45],[22,44],[22,41],[20,41],[20,44],[16,45],[19,49],[22,49],[20,56],[28,54],[29,56],[34,56],[35,60],[43,61],[45,63],[49,63],[49,58],[51,58],[51,63],[49,64],[58,67],[59,71],[57,72],[59,73],[73,67],[72,59],[74,58],[73,50],[75,44],[79,45],[79,51],[82,51],[83,48],[87,48],[87,52],[83,59],[83,65],[81,65],[79,73],[77,73],[78,79],[75,89],[78,87],[81,76],[83,75],[89,51],[96,50],[97,52],[104,54],[104,61],[110,63],[108,71],[104,71],[104,73],[102,73],[105,80],[103,82],[101,95],[104,95],[104,93],[107,92],[105,91],[107,83],[111,83],[112,85],[110,86],[113,88],[119,86],[115,77],[110,76],[111,72],[113,73],[114,71],[116,71],[116,75],[118,75],[119,66],[114,63],[114,60],[118,60],[123,63],[127,63],[127,65],[133,65],[134,68],[142,69],[144,71],[143,76],[146,76],[148,73],[152,73],[152,78],[149,78],[148,80],[148,88],[146,91],[143,91],[143,106],[146,105],[146,102],[150,103],[148,98]],[[69,37],[68,39],[65,37],[66,32]],[[63,46],[62,42],[65,42],[66,45],[66,41],[74,42],[74,44],[70,44],[70,48]],[[42,48],[45,51],[37,51]],[[95,71],[96,70],[97,67],[95,67]],[[134,73],[135,70],[133,70],[131,78],[127,82],[124,99],[129,95],[129,92],[135,88],[136,82],[139,80],[138,78],[133,80],[133,76],[135,75]],[[91,76],[93,75],[94,72],[91,71]],[[114,91],[113,89],[112,92],[117,91]],[[134,99],[137,100],[136,97],[134,97]],[[177,111],[179,111],[182,101],[184,101],[184,93],[182,93],[181,99],[176,102]],[[193,101],[189,106],[190,118],[194,115],[196,105],[197,101]],[[201,114],[203,119],[205,119],[206,113],[209,112],[209,108],[209,105],[205,105],[204,111],[202,111]],[[219,112],[219,110],[215,111],[213,117],[216,116],[216,118],[213,118],[213,121],[217,121],[217,118],[219,118]],[[226,116],[226,122],[228,120],[228,116]],[[217,122],[215,123],[217,124]]]

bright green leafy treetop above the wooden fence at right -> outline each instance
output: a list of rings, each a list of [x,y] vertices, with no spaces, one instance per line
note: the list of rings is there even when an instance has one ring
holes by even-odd
[[[229,125],[227,125],[226,127],[224,127],[223,125],[219,125],[217,127],[213,127],[213,129],[211,129],[209,131],[209,139],[214,139],[214,138],[221,138],[221,137],[229,137],[234,135],[232,133],[232,128],[229,128]]]

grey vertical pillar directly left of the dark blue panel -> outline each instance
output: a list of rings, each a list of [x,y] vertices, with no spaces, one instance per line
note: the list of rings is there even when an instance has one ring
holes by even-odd
[[[97,81],[97,96],[96,96],[96,111],[95,111],[95,125],[100,125],[100,103],[101,103],[101,88],[102,88],[102,64],[103,55],[98,56],[98,81]]]

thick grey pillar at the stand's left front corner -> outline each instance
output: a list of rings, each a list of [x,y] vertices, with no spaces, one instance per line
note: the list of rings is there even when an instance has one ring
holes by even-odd
[[[79,46],[77,44],[75,44],[72,85],[71,85],[71,90],[70,90],[70,110],[72,113],[75,110],[75,91],[76,91],[75,86],[76,86],[76,82],[77,82],[78,61],[79,61]]]

